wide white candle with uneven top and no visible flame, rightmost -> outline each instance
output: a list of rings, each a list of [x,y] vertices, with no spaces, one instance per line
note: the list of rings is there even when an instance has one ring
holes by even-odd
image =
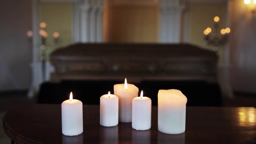
[[[187,97],[176,89],[158,92],[158,130],[166,134],[185,131]]]

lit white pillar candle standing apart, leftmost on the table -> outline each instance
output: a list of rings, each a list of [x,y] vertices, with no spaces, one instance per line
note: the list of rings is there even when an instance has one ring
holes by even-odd
[[[62,134],[75,136],[83,132],[83,104],[73,99],[72,92],[69,100],[61,104]]]

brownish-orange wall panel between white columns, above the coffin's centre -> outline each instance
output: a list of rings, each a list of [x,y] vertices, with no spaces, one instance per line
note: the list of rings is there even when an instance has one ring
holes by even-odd
[[[158,42],[158,6],[111,6],[105,10],[106,42]],[[106,20],[106,19],[105,19]]]

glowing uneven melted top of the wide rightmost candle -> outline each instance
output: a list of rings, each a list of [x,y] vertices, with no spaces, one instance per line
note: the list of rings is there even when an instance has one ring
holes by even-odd
[[[158,101],[164,99],[164,101],[171,104],[186,104],[187,97],[177,89],[159,90]]]

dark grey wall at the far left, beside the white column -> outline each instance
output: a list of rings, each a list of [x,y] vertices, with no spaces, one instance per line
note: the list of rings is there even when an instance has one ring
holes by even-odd
[[[0,0],[0,92],[30,86],[31,29],[32,0]]]

